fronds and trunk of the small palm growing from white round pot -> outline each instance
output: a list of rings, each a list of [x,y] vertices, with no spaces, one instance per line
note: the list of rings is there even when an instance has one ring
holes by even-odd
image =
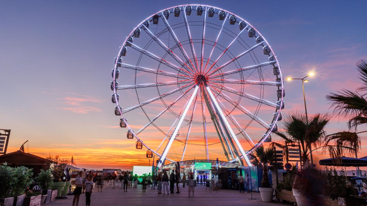
[[[268,170],[271,169],[269,167],[270,163],[275,161],[275,151],[272,147],[264,148],[264,146],[260,146],[255,149],[254,153],[250,154],[250,157],[253,158],[251,163],[254,166],[262,168],[261,187],[269,188]]]

